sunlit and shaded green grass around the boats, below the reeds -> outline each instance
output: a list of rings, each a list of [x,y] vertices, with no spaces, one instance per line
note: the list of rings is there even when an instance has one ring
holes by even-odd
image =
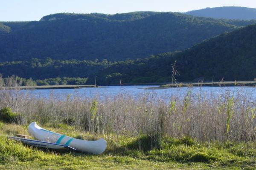
[[[0,122],[0,133],[27,134],[27,127]],[[58,152],[25,146],[4,136],[0,137],[0,169],[234,169],[253,170],[256,166],[256,142],[198,143],[191,138],[166,136],[160,148],[150,137],[92,135],[66,124],[43,126],[49,130],[88,140],[103,137],[107,149],[101,155]]]

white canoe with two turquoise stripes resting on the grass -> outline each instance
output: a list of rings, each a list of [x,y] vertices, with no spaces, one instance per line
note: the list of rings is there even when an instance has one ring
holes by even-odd
[[[35,122],[29,124],[29,133],[40,141],[62,144],[66,147],[69,146],[84,153],[101,154],[105,151],[107,146],[106,141],[103,138],[100,138],[97,141],[86,141],[71,138],[66,135],[45,130],[39,127]]]

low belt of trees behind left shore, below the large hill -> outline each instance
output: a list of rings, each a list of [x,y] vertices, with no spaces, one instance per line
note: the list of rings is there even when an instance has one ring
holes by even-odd
[[[116,62],[114,62],[116,63]],[[107,60],[95,61],[60,61],[51,58],[32,58],[29,61],[12,61],[0,63],[0,73],[6,78],[17,75],[22,78],[46,79],[56,77],[83,77],[99,72],[114,64]]]

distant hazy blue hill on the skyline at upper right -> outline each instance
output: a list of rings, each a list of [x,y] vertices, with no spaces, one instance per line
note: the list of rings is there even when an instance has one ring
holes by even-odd
[[[256,9],[238,6],[224,6],[189,11],[185,14],[198,17],[224,18],[231,20],[255,20]]]

